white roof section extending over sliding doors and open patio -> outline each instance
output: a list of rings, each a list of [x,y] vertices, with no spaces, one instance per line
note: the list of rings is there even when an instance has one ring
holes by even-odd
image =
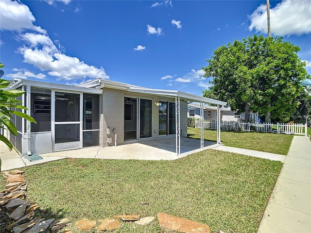
[[[78,86],[95,87],[95,88],[106,87],[106,88],[113,88],[113,89],[118,89],[118,90],[136,92],[136,93],[145,93],[145,94],[151,94],[151,95],[157,95],[157,96],[179,97],[186,101],[204,102],[204,103],[219,104],[219,105],[224,105],[224,106],[227,104],[224,101],[214,100],[214,99],[210,99],[210,98],[206,98],[202,96],[196,96],[196,95],[189,94],[186,92],[175,91],[175,90],[152,89],[152,88],[147,88],[143,86],[137,86],[137,85],[132,85],[128,83],[119,83],[119,82],[104,80],[104,79],[92,80],[86,83],[79,84]]]

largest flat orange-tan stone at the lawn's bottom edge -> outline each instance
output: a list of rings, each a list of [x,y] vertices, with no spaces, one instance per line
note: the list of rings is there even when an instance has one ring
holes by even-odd
[[[194,222],[181,217],[158,213],[160,227],[165,230],[179,231],[184,233],[210,233],[206,224]]]

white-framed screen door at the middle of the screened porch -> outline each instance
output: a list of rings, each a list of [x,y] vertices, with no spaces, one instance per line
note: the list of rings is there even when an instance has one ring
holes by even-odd
[[[82,148],[82,95],[55,92],[54,151]]]

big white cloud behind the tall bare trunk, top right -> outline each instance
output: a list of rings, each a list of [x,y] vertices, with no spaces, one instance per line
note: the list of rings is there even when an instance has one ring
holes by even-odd
[[[311,33],[310,0],[283,0],[270,9],[271,33],[276,36]],[[251,16],[249,31],[267,33],[267,7],[260,5]]]

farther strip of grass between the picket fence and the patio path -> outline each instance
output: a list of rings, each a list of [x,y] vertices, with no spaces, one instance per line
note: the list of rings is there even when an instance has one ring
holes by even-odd
[[[188,137],[200,139],[199,128],[188,128]],[[217,131],[205,130],[204,139],[217,140]],[[287,155],[293,135],[257,132],[221,131],[220,139],[225,146],[258,150],[263,152]]]

